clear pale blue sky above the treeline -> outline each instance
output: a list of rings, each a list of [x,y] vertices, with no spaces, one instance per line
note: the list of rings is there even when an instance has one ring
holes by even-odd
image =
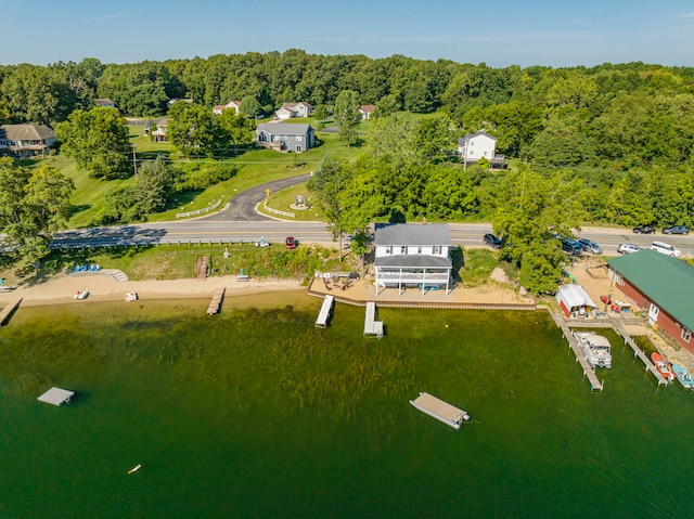
[[[492,67],[694,66],[692,0],[0,0],[0,64],[394,54]]]

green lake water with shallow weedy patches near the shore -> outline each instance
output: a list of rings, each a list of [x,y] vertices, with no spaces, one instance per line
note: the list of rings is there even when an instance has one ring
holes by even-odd
[[[0,329],[0,517],[692,517],[694,394],[542,312],[272,294],[27,307]],[[70,405],[36,398],[77,391]],[[409,400],[465,408],[454,430]],[[141,464],[131,475],[128,470]]]

